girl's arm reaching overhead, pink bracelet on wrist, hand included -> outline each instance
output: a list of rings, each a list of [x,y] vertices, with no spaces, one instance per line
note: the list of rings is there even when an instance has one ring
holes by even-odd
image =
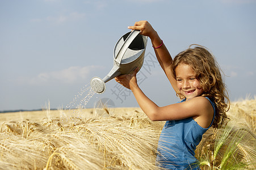
[[[128,28],[140,30],[142,35],[150,38],[154,47],[158,47],[162,44],[159,48],[154,48],[154,52],[156,53],[157,60],[169,79],[171,86],[173,87],[174,91],[177,92],[177,82],[171,75],[171,63],[173,62],[173,59],[171,58],[165,44],[158,36],[158,33],[153,29],[152,25],[150,25],[149,22],[142,20],[140,22],[136,22],[135,25]]]

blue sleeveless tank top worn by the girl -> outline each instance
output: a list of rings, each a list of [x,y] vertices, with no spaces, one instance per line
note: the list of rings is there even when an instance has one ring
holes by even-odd
[[[207,98],[213,107],[215,117],[215,103]],[[186,101],[186,99],[179,103]],[[200,169],[199,162],[195,158],[195,149],[202,140],[202,136],[208,128],[202,128],[192,118],[183,120],[166,121],[163,126],[159,141],[156,164],[166,169]]]

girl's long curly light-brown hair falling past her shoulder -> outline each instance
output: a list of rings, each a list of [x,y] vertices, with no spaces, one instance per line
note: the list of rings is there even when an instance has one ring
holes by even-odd
[[[226,125],[228,120],[226,112],[229,110],[230,100],[226,91],[226,84],[221,76],[221,69],[216,62],[215,57],[201,45],[196,44],[189,46],[187,50],[179,53],[172,63],[172,74],[176,79],[175,69],[180,63],[187,64],[194,69],[196,79],[199,80],[203,88],[202,96],[209,97],[215,103],[215,118],[213,120],[213,128],[220,128]],[[184,96],[177,92],[180,99]]]

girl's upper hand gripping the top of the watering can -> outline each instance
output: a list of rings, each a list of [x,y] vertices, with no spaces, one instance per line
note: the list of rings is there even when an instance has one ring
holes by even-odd
[[[141,35],[148,36],[150,39],[157,35],[157,32],[153,29],[152,25],[146,20],[136,22],[133,26],[129,26],[128,28],[140,30]]]

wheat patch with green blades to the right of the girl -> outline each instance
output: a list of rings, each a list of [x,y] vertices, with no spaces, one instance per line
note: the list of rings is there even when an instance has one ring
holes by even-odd
[[[255,108],[255,99],[233,102],[226,128],[203,135],[196,150],[201,169],[255,169]]]

